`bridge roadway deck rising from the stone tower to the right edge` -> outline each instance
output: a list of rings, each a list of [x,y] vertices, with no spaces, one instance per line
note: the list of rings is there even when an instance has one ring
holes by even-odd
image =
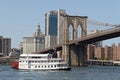
[[[107,40],[110,38],[120,37],[120,27],[112,28],[109,30],[104,30],[99,33],[89,34],[85,37],[79,38],[77,40],[70,41],[70,45],[76,43],[91,44],[97,41]]]

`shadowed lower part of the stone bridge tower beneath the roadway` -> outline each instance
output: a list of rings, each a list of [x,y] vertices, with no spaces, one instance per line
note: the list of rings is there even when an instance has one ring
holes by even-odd
[[[85,45],[70,46],[69,60],[72,66],[84,66],[87,60],[87,47]]]

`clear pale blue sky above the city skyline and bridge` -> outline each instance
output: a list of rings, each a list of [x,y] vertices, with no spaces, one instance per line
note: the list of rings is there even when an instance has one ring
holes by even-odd
[[[45,32],[45,13],[63,9],[69,15],[120,24],[120,0],[0,0],[0,35],[11,38],[12,48],[19,48],[23,37],[32,36],[38,22]],[[89,27],[89,26],[88,26]],[[120,43],[120,38],[105,44]]]

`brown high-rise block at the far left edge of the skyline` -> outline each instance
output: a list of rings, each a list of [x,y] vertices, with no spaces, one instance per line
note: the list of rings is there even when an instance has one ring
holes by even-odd
[[[0,36],[0,53],[3,56],[8,56],[11,51],[11,39],[10,38],[3,38]]]

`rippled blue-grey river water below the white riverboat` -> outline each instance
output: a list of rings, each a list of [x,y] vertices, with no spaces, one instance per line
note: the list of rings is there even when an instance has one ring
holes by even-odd
[[[120,66],[72,67],[71,71],[28,71],[0,65],[0,80],[120,80]]]

